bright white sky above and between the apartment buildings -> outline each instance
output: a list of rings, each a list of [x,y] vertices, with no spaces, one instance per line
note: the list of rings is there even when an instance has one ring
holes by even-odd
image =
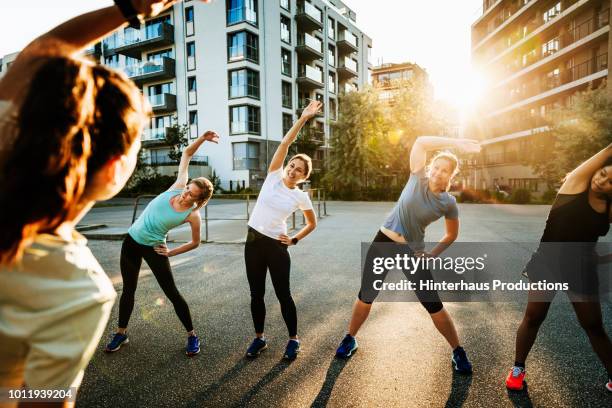
[[[70,17],[113,4],[112,0],[2,3],[0,56],[20,50]],[[483,84],[470,66],[470,26],[480,15],[482,0],[345,0],[345,3],[356,12],[357,26],[372,38],[373,64],[416,62],[427,70],[437,99],[459,109],[467,109],[475,102]],[[27,20],[24,16],[28,16]]]

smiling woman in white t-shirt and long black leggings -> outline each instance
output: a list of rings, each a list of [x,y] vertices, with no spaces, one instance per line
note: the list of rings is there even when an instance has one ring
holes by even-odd
[[[268,176],[249,219],[244,260],[251,290],[251,315],[255,326],[255,339],[247,350],[247,357],[256,357],[268,347],[264,337],[266,318],[264,294],[268,270],[289,331],[289,342],[284,358],[294,360],[300,351],[297,337],[297,313],[289,285],[291,257],[287,248],[297,244],[317,225],[317,218],[308,193],[297,187],[297,184],[306,181],[310,176],[312,161],[305,154],[297,154],[289,159],[285,168],[283,168],[283,163],[289,146],[294,142],[299,131],[320,108],[321,102],[310,102],[302,112],[302,116],[281,141],[274,153],[268,168]],[[304,213],[306,226],[293,237],[289,237],[287,218],[297,209]]]

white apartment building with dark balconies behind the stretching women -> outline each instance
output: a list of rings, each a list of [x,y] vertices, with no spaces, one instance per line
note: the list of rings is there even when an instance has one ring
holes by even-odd
[[[338,95],[369,80],[372,41],[336,0],[184,1],[87,51],[124,70],[153,107],[142,136],[146,159],[173,174],[166,134],[187,125],[189,140],[221,135],[192,161],[192,177],[214,170],[224,189],[258,189],[275,148],[310,99],[324,103],[311,126],[327,155]]]

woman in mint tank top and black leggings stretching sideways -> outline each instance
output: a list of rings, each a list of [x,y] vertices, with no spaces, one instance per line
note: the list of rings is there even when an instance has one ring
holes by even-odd
[[[199,210],[208,203],[213,193],[213,186],[205,177],[198,177],[188,182],[189,162],[205,141],[217,143],[218,140],[219,136],[215,132],[208,131],[187,146],[183,151],[178,176],[172,187],[155,197],[128,230],[121,246],[123,291],[119,302],[119,325],[106,346],[106,352],[117,351],[129,342],[126,331],[134,308],[134,293],[143,258],[164,294],[172,302],[177,316],[187,331],[186,354],[194,356],[200,352],[200,341],[193,330],[189,306],[176,288],[168,258],[191,251],[200,245]],[[184,223],[191,226],[191,241],[169,249],[166,246],[168,231]]]

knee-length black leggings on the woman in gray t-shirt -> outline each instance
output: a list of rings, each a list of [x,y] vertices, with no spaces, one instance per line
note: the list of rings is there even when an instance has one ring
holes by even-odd
[[[372,241],[372,244],[391,243],[391,242],[394,242],[394,241],[388,236],[386,236],[385,234],[383,234],[382,231],[379,230],[376,236],[374,237],[374,241]],[[365,265],[364,265],[366,268],[365,269],[366,271],[372,270],[371,268],[372,260],[375,257],[380,256],[380,255],[381,254],[378,254],[376,246],[370,245],[370,247],[368,248],[368,252],[366,255],[366,259],[365,259]],[[389,272],[388,270],[385,270],[385,272],[379,275],[379,277],[376,277],[376,279],[382,279],[384,281],[388,272]],[[428,269],[420,269],[419,271],[417,271],[417,273],[414,275],[413,278],[416,278],[418,280],[433,280],[431,271]],[[363,303],[370,304],[374,302],[374,299],[376,299],[376,297],[378,296],[378,291],[374,291],[372,289],[373,279],[374,279],[374,275],[372,275],[371,272],[364,271],[364,273],[362,273],[361,290],[359,291],[359,294],[357,295],[357,297]],[[416,294],[417,298],[419,299],[423,307],[427,310],[427,312],[429,312],[429,314],[437,313],[440,310],[442,310],[443,305],[442,305],[442,302],[440,301],[440,297],[438,296],[437,291],[435,290],[425,291],[425,290],[417,289],[414,291],[414,293]]]

